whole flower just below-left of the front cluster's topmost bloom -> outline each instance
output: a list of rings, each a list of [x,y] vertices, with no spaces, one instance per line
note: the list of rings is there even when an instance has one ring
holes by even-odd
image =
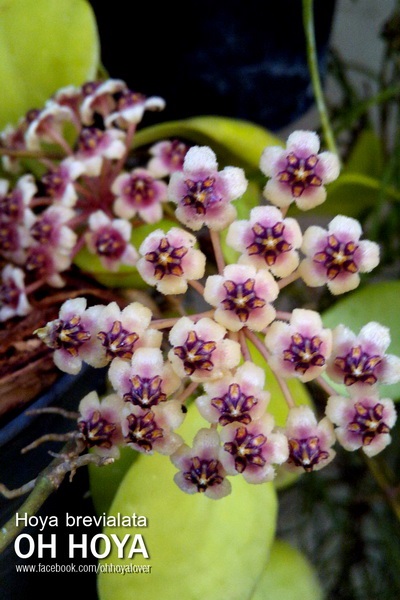
[[[276,277],[290,275],[299,264],[302,235],[298,222],[284,219],[276,206],[256,206],[248,221],[234,221],[226,243],[241,252],[240,264],[268,269]]]

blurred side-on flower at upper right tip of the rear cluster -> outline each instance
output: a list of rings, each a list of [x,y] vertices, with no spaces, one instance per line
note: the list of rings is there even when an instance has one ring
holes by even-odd
[[[106,127],[117,126],[127,129],[143,119],[146,110],[159,111],[165,108],[165,100],[159,96],[146,97],[143,94],[123,90],[118,95],[116,109],[105,119]]]

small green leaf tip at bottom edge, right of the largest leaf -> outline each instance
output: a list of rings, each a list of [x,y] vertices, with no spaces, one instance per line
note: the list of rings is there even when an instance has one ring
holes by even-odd
[[[250,600],[322,600],[317,573],[299,550],[276,539],[266,569]]]

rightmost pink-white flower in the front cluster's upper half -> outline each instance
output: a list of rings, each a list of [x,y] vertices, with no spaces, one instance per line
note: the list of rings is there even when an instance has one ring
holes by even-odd
[[[360,241],[361,225],[356,219],[338,215],[323,229],[309,227],[303,237],[300,274],[310,287],[327,284],[332,294],[343,294],[360,283],[359,273],[369,273],[379,263],[379,246]]]

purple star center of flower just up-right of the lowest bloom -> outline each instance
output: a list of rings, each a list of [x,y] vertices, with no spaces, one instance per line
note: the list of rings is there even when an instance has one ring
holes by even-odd
[[[238,427],[232,442],[224,444],[224,450],[235,458],[235,469],[238,473],[249,466],[263,467],[265,458],[262,456],[262,448],[267,438],[262,433],[252,435],[246,427]]]

